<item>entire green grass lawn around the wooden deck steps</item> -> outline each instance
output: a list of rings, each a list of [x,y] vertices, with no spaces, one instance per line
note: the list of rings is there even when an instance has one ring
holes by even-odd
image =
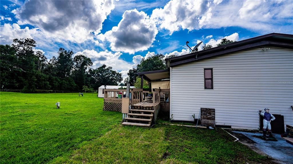
[[[272,163],[223,130],[122,126],[91,94],[1,92],[0,105],[0,163]]]

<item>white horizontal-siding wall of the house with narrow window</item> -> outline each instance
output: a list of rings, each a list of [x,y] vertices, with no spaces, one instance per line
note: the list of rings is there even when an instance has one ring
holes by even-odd
[[[204,68],[213,68],[214,89],[204,89]],[[200,108],[214,108],[217,125],[258,129],[259,109],[282,114],[293,125],[293,50],[240,51],[172,67],[174,120],[193,121]],[[171,115],[171,114],[170,114]]]

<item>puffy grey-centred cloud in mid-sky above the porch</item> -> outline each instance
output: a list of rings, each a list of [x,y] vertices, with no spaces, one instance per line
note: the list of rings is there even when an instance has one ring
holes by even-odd
[[[118,26],[97,38],[109,41],[111,50],[133,54],[137,51],[147,50],[155,40],[158,33],[154,20],[143,11],[127,10],[122,16]]]

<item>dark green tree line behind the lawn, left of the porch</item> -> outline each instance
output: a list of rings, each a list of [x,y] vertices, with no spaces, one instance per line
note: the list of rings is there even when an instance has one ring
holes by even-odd
[[[93,69],[93,62],[72,50],[59,48],[58,56],[48,61],[41,51],[34,51],[33,39],[14,39],[12,45],[0,45],[1,89],[81,91],[101,85],[118,85],[122,74],[105,64]]]

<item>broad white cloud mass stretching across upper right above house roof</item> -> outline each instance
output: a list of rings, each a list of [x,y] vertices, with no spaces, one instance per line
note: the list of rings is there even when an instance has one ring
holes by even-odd
[[[181,29],[235,26],[261,33],[292,33],[292,11],[290,0],[171,0],[163,8],[154,9],[151,18],[170,35]]]

